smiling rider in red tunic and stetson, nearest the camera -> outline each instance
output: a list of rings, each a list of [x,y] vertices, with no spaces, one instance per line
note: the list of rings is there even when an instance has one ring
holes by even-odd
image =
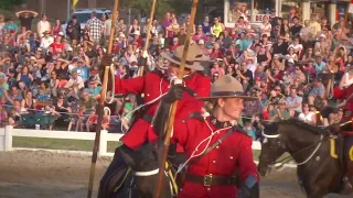
[[[170,89],[161,100],[157,120],[168,120],[170,106],[182,98],[183,89],[180,85]],[[178,198],[258,198],[253,140],[234,122],[242,116],[243,101],[257,98],[246,96],[242,84],[225,75],[213,84],[211,96],[200,100],[214,105],[210,117],[175,119],[173,125],[171,141],[180,143],[188,157],[183,165],[188,166],[185,182]],[[153,124],[157,131],[164,129],[162,122]]]

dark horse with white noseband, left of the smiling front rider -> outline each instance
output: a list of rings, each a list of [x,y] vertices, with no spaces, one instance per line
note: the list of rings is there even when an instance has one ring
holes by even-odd
[[[161,156],[161,146],[149,143],[141,146],[133,153],[119,152],[126,164],[129,166],[129,173],[126,179],[120,184],[116,193],[110,193],[110,198],[152,198],[159,174],[159,158]],[[164,179],[161,197],[173,197],[178,194],[178,185],[173,177],[175,169],[165,164]],[[178,184],[181,184],[178,180]]]

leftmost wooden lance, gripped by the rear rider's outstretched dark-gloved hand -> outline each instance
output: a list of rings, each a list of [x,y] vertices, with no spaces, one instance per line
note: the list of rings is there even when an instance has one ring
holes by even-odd
[[[111,19],[111,29],[110,29],[110,37],[109,37],[109,45],[108,45],[108,54],[111,54],[113,48],[113,41],[115,35],[115,24],[118,16],[118,6],[119,0],[114,1],[114,12],[113,12],[113,19]],[[96,162],[97,162],[97,155],[98,155],[98,147],[99,147],[99,141],[100,141],[100,130],[101,130],[101,122],[104,117],[104,103],[106,101],[106,95],[107,95],[107,86],[108,86],[108,75],[109,69],[111,66],[105,66],[104,69],[104,78],[103,78],[103,85],[101,85],[101,92],[100,98],[97,105],[97,127],[96,127],[96,138],[95,138],[95,144],[93,147],[93,155],[92,155],[92,163],[90,163],[90,174],[89,174],[89,183],[88,183],[88,194],[87,198],[92,198],[92,191],[93,191],[93,184],[95,178],[95,170],[96,170]],[[114,95],[111,96],[114,97]]]

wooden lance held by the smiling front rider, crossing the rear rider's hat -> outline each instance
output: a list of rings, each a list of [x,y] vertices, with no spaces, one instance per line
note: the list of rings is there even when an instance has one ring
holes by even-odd
[[[192,9],[191,9],[191,19],[190,19],[190,23],[189,23],[189,26],[188,26],[188,30],[186,30],[186,38],[185,38],[185,43],[184,43],[184,51],[183,51],[183,56],[182,56],[181,64],[180,64],[180,72],[179,72],[179,75],[178,75],[179,79],[182,79],[184,77],[186,55],[188,55],[188,51],[189,51],[189,46],[190,46],[191,33],[193,32],[194,20],[195,20],[196,10],[197,10],[197,3],[199,3],[199,0],[193,0]],[[169,122],[168,122],[167,133],[165,133],[165,139],[164,139],[163,155],[162,155],[162,158],[161,158],[160,164],[159,164],[158,183],[157,183],[157,186],[156,186],[154,198],[160,198],[161,191],[162,191],[165,162],[167,162],[169,146],[170,146],[171,133],[172,133],[172,129],[173,129],[173,125],[174,125],[176,106],[178,106],[178,101],[175,101],[171,106],[170,119],[169,119]]]

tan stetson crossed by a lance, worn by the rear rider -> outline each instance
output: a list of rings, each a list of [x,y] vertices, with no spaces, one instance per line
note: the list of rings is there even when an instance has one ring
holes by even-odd
[[[161,53],[161,56],[169,62],[180,65],[184,52],[184,45],[176,47],[175,53],[170,55],[169,53]],[[185,67],[194,70],[203,70],[204,67],[201,65],[202,52],[197,44],[191,44],[189,46]]]

